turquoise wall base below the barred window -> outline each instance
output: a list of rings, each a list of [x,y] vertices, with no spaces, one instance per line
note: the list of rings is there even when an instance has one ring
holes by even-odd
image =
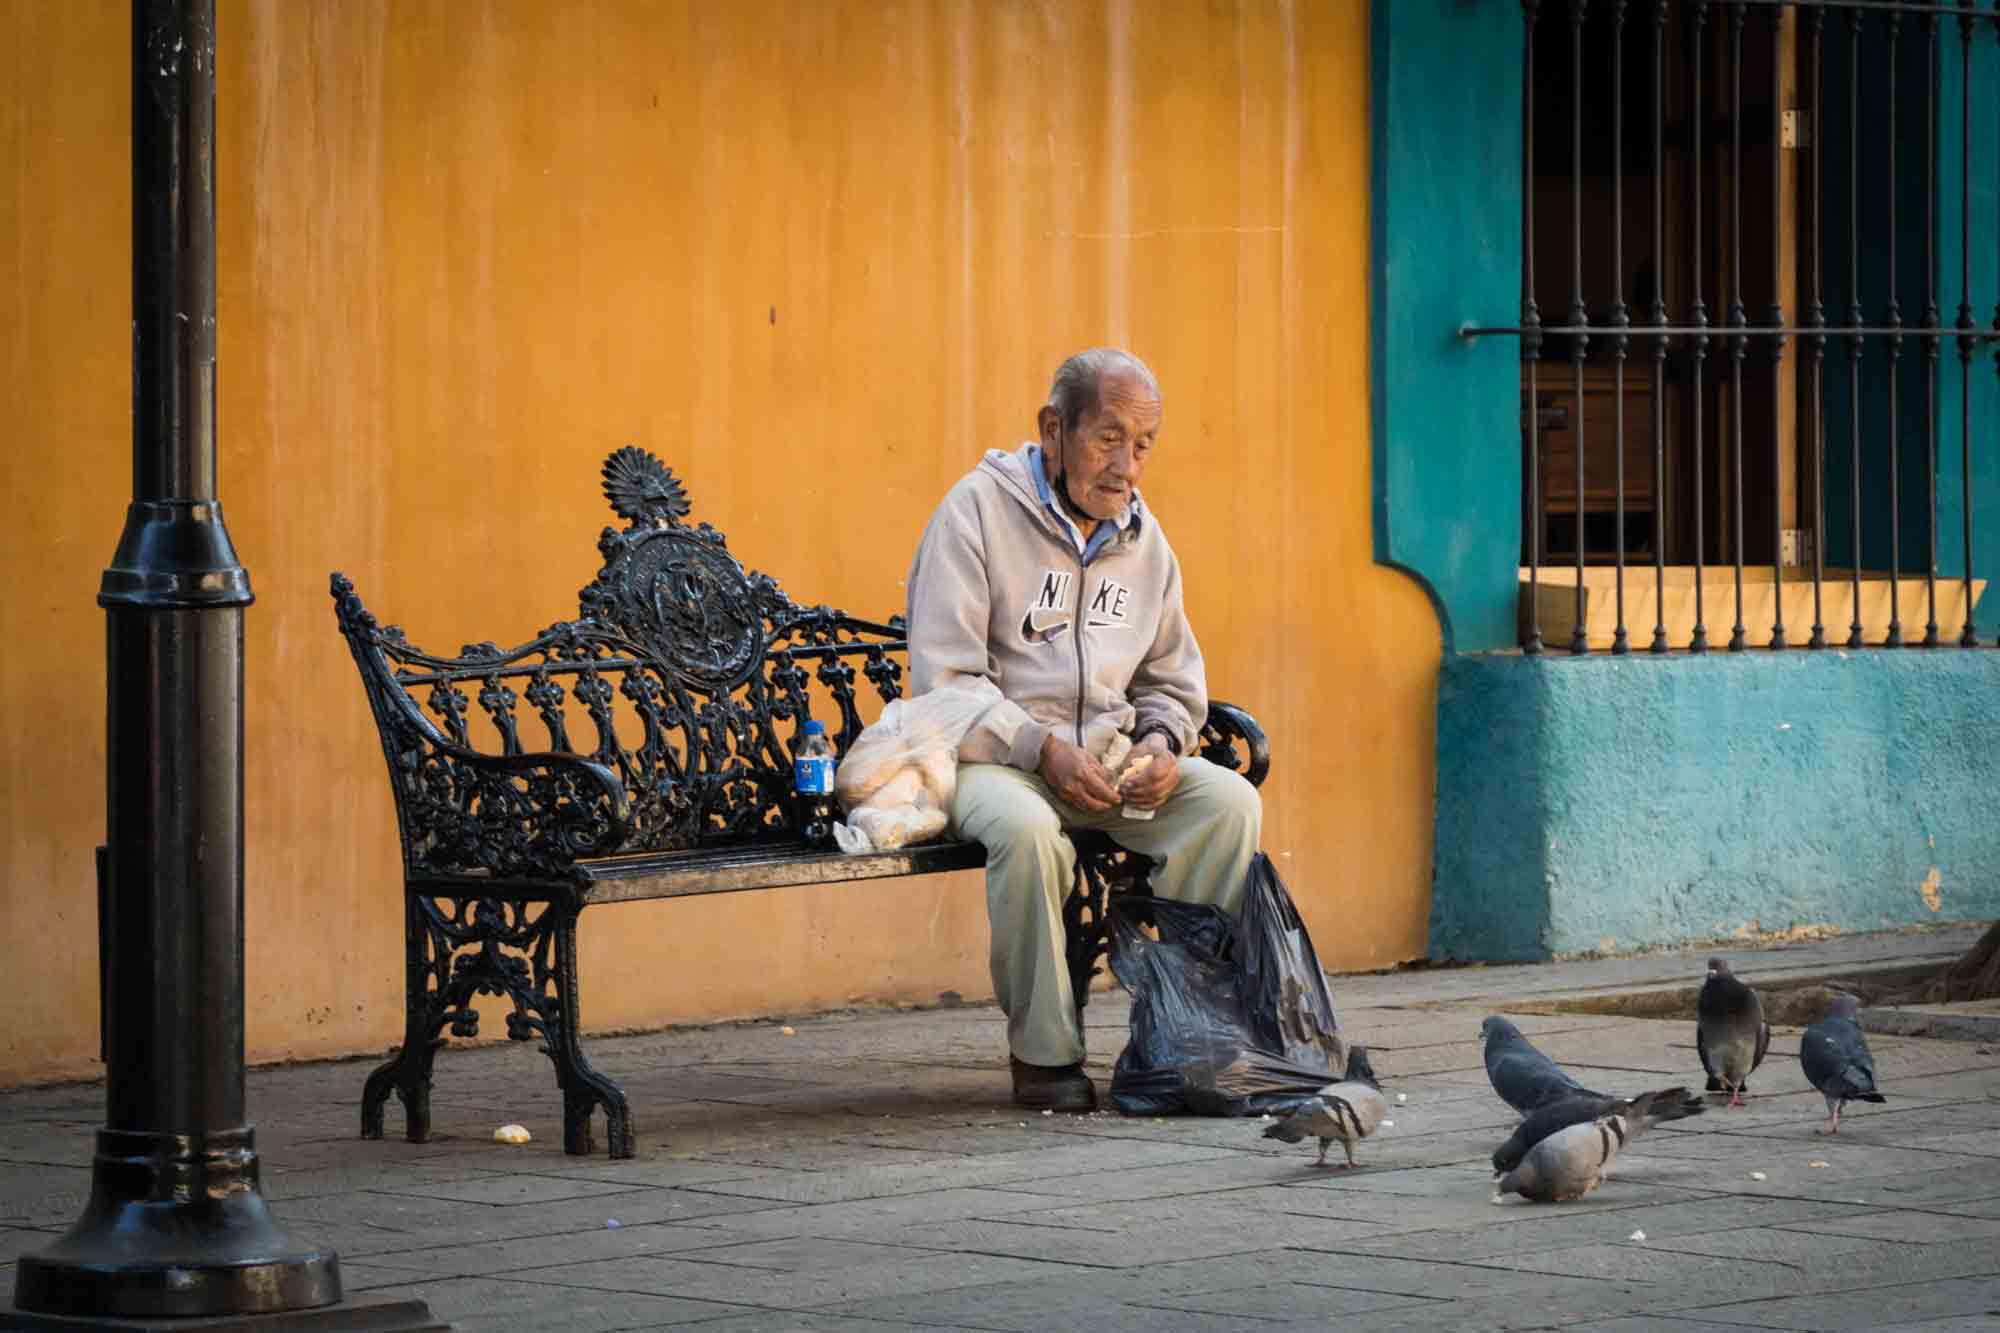
[[[1446,656],[1430,957],[2000,917],[2000,650]]]

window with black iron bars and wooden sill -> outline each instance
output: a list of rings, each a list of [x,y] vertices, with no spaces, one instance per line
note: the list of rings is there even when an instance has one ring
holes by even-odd
[[[2000,2],[1522,16],[1522,648],[1980,644]]]

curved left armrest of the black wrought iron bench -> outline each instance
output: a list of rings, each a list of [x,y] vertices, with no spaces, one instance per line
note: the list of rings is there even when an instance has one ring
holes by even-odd
[[[404,835],[416,875],[570,879],[632,831],[632,801],[582,755],[482,755],[428,737],[404,781]]]

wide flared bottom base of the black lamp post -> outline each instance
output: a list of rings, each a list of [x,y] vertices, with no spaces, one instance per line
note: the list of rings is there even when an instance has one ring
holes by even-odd
[[[248,1127],[100,1129],[84,1215],[14,1275],[14,1305],[38,1315],[270,1315],[338,1299],[338,1255],[294,1249],[264,1207]]]

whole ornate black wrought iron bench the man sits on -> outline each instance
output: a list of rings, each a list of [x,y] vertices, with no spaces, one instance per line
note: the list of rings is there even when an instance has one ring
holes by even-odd
[[[604,566],[580,594],[582,614],[518,648],[424,652],[332,576],[402,835],[406,1025],[362,1089],[368,1139],[382,1137],[390,1091],[410,1141],[430,1137],[442,1033],[476,1037],[474,997],[494,995],[512,1001],[508,1037],[540,1039],[556,1065],[564,1149],[592,1151],[602,1107],[610,1155],[630,1157],[624,1091],[592,1069],[578,1035],[584,907],[984,863],[972,843],[842,855],[796,833],[792,753],[804,723],[818,713],[844,755],[864,697],[900,695],[900,616],[792,602],[746,572],[722,532],[684,522],[686,492],[644,450],[604,462],[604,494],[626,526],[598,538]],[[524,735],[536,723],[546,735]],[[1270,767],[1256,721],[1224,703],[1210,705],[1200,753],[1252,783]],[[1144,885],[1148,863],[1102,835],[1076,835],[1076,849],[1064,923],[1084,1005],[1108,899]]]

